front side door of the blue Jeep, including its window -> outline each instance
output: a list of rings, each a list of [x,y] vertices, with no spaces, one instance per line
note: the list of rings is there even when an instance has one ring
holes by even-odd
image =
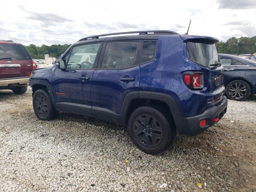
[[[84,107],[91,112],[91,82],[101,47],[102,43],[82,44],[74,46],[65,56],[66,68],[57,68],[52,80],[57,108]]]

